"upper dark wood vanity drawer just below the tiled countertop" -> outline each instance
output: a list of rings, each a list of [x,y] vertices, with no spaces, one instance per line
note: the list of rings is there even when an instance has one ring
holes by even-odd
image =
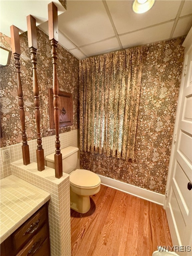
[[[18,251],[36,234],[46,221],[46,207],[43,206],[12,234],[13,250]]]

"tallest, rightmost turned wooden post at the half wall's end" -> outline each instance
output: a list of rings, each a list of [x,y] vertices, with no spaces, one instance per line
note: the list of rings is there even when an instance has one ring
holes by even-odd
[[[51,2],[48,4],[48,24],[49,24],[49,40],[51,41],[51,56],[53,61],[53,107],[54,107],[54,123],[55,123],[55,177],[63,176],[62,154],[59,141],[59,85],[57,78],[57,42],[58,42],[58,16],[57,6]]]

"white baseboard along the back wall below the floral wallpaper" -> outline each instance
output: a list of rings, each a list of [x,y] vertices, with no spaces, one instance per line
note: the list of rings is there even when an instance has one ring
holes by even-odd
[[[117,190],[120,190],[122,192],[128,193],[133,196],[137,196],[139,198],[145,199],[147,201],[163,205],[164,202],[164,195],[144,189],[139,188],[130,184],[127,184],[122,181],[114,180],[102,175],[98,175],[101,179],[101,184],[115,188]]]

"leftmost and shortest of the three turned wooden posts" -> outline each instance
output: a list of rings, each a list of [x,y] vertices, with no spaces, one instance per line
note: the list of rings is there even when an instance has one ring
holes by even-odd
[[[22,154],[23,154],[23,164],[30,164],[30,155],[29,155],[29,145],[27,144],[27,135],[25,132],[25,111],[24,111],[24,103],[23,103],[23,90],[21,85],[21,77],[20,77],[20,39],[19,39],[19,29],[12,25],[10,27],[11,30],[11,47],[12,52],[14,54],[15,59],[15,68],[17,72],[17,95],[19,97],[19,115],[21,120],[22,127]]]

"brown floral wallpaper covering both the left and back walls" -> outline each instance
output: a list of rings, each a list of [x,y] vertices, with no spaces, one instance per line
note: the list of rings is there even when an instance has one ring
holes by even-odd
[[[161,194],[165,193],[178,92],[183,66],[184,38],[146,45],[134,162],[96,153],[81,152],[81,168]],[[48,88],[52,87],[51,46],[48,36],[37,28],[37,76],[42,137],[54,135],[49,129]],[[28,140],[36,138],[32,65],[27,33],[20,35],[21,81]],[[11,49],[10,38],[0,33],[0,45]],[[61,90],[73,93],[73,126],[79,128],[79,60],[58,44],[58,80]],[[22,140],[13,55],[0,74],[1,147]]]

